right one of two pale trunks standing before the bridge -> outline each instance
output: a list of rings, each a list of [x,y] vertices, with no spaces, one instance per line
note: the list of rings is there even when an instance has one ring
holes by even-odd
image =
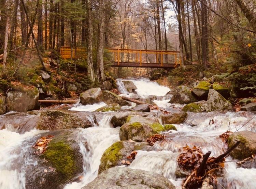
[[[103,44],[104,44],[104,17],[105,0],[99,0],[99,24],[98,24],[98,45],[97,45],[97,77],[98,81],[104,80],[103,67]]]

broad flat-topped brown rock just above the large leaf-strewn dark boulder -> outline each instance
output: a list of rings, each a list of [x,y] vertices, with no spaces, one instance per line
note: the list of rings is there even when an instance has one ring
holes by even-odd
[[[93,123],[94,122],[94,123]],[[83,112],[65,110],[44,110],[40,113],[37,129],[57,130],[70,128],[88,128],[96,124],[96,116]]]

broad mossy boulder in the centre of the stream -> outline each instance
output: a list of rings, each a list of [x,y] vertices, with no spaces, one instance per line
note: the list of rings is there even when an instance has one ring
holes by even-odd
[[[120,140],[145,141],[148,137],[164,131],[156,117],[130,115],[119,131]]]

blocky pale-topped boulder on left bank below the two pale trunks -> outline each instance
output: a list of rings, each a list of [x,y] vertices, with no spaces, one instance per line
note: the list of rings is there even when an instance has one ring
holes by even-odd
[[[80,94],[80,101],[83,105],[100,103],[102,101],[100,88],[92,88]]]

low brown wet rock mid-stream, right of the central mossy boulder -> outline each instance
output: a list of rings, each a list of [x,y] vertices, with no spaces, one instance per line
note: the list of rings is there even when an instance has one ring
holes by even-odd
[[[161,119],[163,124],[181,124],[185,121],[187,115],[187,112],[172,113],[162,115]]]

